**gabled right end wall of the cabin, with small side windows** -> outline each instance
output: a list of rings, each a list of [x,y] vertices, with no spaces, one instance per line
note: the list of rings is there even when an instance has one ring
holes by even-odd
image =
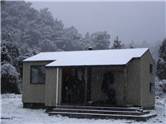
[[[153,74],[149,72],[150,64],[153,65]],[[153,108],[155,104],[155,95],[150,92],[150,82],[155,83],[155,63],[150,54],[146,52],[141,58],[141,104],[144,108]]]

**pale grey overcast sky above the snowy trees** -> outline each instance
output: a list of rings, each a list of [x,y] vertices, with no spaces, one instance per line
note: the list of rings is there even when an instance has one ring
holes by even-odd
[[[123,42],[157,42],[166,35],[164,2],[32,2],[37,9],[48,8],[65,27],[80,33],[107,31]]]

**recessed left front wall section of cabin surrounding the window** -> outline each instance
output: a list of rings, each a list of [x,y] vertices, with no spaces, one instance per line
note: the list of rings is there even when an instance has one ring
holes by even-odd
[[[23,103],[44,103],[45,84],[30,83],[31,65],[46,65],[49,62],[24,62],[23,63]]]

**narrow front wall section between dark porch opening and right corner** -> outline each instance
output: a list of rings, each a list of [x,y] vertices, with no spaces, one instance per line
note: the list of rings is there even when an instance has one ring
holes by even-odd
[[[131,60],[127,68],[126,104],[129,106],[141,106],[140,95],[140,59]]]

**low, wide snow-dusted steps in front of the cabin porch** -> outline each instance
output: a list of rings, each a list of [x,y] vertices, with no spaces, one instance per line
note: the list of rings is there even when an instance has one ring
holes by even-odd
[[[96,106],[57,106],[46,111],[50,116],[61,115],[71,118],[97,119],[133,119],[145,121],[155,117],[154,110],[144,110],[140,107],[96,107]]]

